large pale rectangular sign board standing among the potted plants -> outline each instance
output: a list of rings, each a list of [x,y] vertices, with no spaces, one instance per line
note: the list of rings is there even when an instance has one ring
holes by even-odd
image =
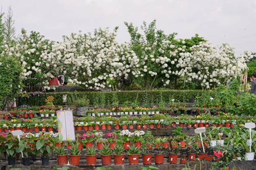
[[[74,121],[72,110],[58,110],[57,112],[58,132],[60,141],[75,140]]]

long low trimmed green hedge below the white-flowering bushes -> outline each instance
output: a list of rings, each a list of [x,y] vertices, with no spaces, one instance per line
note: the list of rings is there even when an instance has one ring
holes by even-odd
[[[81,91],[81,92],[53,92],[47,93],[48,96],[54,96],[54,105],[65,105],[62,102],[62,95],[68,94],[67,104],[72,105],[75,99],[88,98],[90,105],[102,104],[124,104],[125,102],[132,103],[134,101],[142,103],[158,103],[164,101],[169,103],[172,99],[175,102],[188,102],[188,98],[196,98],[203,93],[214,96],[215,91],[203,90],[137,90],[137,91]]]

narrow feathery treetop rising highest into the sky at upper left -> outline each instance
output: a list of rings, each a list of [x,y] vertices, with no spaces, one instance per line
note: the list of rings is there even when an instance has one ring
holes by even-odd
[[[12,19],[12,9],[11,6],[9,6],[8,8],[8,13],[7,16],[5,16],[5,39],[7,41],[10,41],[11,38],[13,38],[15,36],[15,27],[14,27],[14,20]]]

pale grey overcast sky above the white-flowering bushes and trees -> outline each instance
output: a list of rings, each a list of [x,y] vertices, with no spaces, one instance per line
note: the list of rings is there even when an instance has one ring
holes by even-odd
[[[255,0],[0,0],[0,5],[5,13],[11,5],[16,34],[25,28],[54,41],[79,30],[119,26],[121,43],[130,40],[124,21],[141,26],[156,19],[157,29],[176,32],[177,38],[199,34],[214,44],[229,43],[236,54],[256,52]]]

